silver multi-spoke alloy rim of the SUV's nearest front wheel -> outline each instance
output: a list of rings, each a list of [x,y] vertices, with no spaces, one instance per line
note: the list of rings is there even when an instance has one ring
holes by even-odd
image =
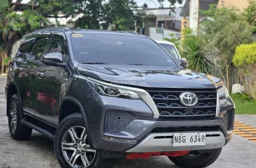
[[[71,167],[89,167],[94,161],[96,150],[91,148],[86,129],[81,126],[69,128],[62,139],[62,153]]]

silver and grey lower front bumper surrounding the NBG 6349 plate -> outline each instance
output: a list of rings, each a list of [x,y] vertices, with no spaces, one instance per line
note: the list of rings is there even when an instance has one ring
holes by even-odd
[[[155,128],[176,128],[177,131],[175,132],[206,132],[208,137],[206,137],[205,146],[174,147],[172,138],[154,139],[156,136],[173,136],[174,132],[154,132]],[[204,128],[204,130],[201,128]],[[132,134],[129,132],[132,132]],[[225,146],[231,139],[232,132],[232,130],[226,129],[225,123],[221,118],[204,121],[134,120],[122,132],[104,132],[104,136],[117,139],[136,139],[137,143],[121,143],[103,139],[101,145],[103,145],[102,149],[106,151],[129,153],[204,150]],[[215,136],[210,137],[210,135]]]

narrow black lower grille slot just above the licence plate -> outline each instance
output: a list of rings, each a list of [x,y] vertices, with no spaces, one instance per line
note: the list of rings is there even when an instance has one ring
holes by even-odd
[[[186,132],[186,131],[216,131],[221,130],[219,126],[198,126],[198,127],[165,127],[154,128],[152,133],[162,132]]]

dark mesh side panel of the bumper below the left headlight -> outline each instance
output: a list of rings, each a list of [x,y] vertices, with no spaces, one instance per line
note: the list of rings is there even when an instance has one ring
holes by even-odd
[[[125,127],[134,121],[135,116],[130,112],[107,111],[105,116],[104,130],[121,132]]]

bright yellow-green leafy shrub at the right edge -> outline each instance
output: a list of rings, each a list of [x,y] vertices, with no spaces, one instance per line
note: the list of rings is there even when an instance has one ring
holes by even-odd
[[[256,43],[236,47],[233,62],[235,66],[256,66]]]

